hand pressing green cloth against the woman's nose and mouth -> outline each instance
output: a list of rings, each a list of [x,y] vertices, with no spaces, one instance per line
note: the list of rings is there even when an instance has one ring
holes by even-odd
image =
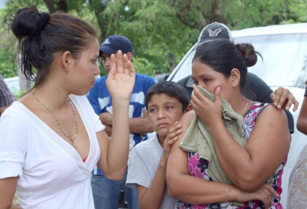
[[[214,102],[200,92],[196,85],[193,85],[191,95],[191,105],[200,120],[209,127],[215,121],[222,119],[221,87],[217,87],[214,92]]]

